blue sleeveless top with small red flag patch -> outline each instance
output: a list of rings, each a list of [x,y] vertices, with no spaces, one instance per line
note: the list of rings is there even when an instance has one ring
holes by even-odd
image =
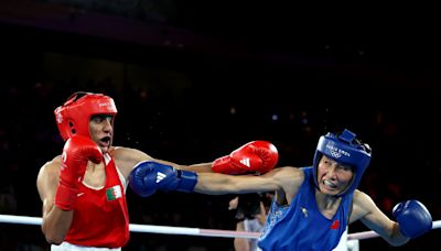
[[[332,219],[324,217],[315,203],[313,167],[303,167],[304,181],[291,205],[273,199],[259,247],[265,250],[333,250],[348,225],[353,193],[344,194]]]

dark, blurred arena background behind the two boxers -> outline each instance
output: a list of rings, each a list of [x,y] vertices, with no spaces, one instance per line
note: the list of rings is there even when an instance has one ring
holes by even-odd
[[[311,165],[319,137],[348,128],[373,148],[362,190],[389,216],[419,199],[441,219],[431,15],[268,4],[2,1],[0,214],[41,217],[36,175],[63,148],[53,110],[86,90],[115,99],[115,145],[180,164],[268,140],[279,166]],[[204,229],[235,229],[233,197],[128,190],[131,223]],[[0,232],[0,250],[49,250],[37,226]],[[400,248],[362,240],[361,250],[439,250],[440,240],[432,230]],[[132,233],[125,250],[233,250],[233,239]]]

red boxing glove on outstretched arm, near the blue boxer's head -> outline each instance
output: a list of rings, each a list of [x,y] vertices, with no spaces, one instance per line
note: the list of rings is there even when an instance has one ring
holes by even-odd
[[[276,167],[279,153],[268,141],[251,141],[215,160],[212,170],[223,174],[263,174]]]

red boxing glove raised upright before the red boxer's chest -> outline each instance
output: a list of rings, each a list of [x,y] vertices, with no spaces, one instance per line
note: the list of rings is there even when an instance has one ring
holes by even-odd
[[[78,184],[83,181],[86,172],[87,162],[100,163],[103,153],[90,139],[74,135],[64,144],[62,159],[55,206],[63,210],[72,210],[78,194]]]

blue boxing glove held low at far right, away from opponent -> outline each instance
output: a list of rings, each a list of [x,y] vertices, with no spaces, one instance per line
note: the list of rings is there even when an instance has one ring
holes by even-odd
[[[432,216],[418,200],[407,200],[397,204],[392,209],[400,231],[408,238],[416,238],[432,229]]]

